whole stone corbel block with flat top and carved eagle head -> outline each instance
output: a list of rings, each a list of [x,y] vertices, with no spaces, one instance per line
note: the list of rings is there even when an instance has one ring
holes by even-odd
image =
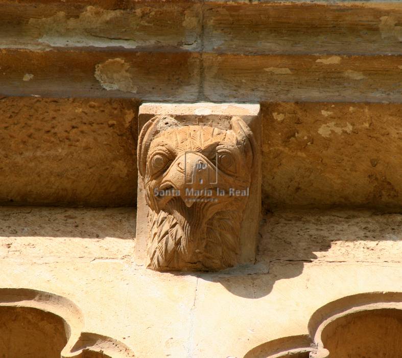
[[[159,271],[254,262],[261,208],[259,105],[140,106],[135,255]]]

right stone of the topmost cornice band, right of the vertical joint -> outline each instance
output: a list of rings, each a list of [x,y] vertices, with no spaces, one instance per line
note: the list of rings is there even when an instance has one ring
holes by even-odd
[[[204,6],[205,50],[243,54],[401,53],[400,3],[311,3],[208,1]]]

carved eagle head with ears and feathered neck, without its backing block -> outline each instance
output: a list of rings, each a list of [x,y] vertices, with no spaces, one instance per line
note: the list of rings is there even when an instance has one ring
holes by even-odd
[[[148,121],[138,169],[148,211],[148,266],[157,271],[221,270],[237,263],[255,141],[240,117],[231,129]]]

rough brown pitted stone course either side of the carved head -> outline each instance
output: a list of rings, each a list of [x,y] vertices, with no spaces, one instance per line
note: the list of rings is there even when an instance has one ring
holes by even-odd
[[[134,205],[138,104],[2,98],[0,203]],[[265,208],[400,207],[400,104],[264,102],[261,108]]]

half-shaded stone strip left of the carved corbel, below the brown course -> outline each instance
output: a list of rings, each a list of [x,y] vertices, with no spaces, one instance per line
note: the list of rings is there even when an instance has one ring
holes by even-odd
[[[9,244],[1,248],[0,257],[3,258],[8,256],[18,259],[27,255],[39,259],[41,254],[36,248],[37,238],[40,238],[49,252],[54,253],[59,250],[60,242],[69,241],[72,250],[63,252],[63,257],[53,257],[57,261],[66,262],[80,257],[123,259],[128,257],[134,245],[135,210],[132,207],[0,208],[0,233],[2,237],[9,239]],[[86,239],[91,239],[93,245],[73,249],[80,245],[80,241]],[[108,252],[110,248],[113,248],[112,252]],[[92,251],[94,249],[95,251]],[[49,262],[51,256],[47,252],[43,255]]]

